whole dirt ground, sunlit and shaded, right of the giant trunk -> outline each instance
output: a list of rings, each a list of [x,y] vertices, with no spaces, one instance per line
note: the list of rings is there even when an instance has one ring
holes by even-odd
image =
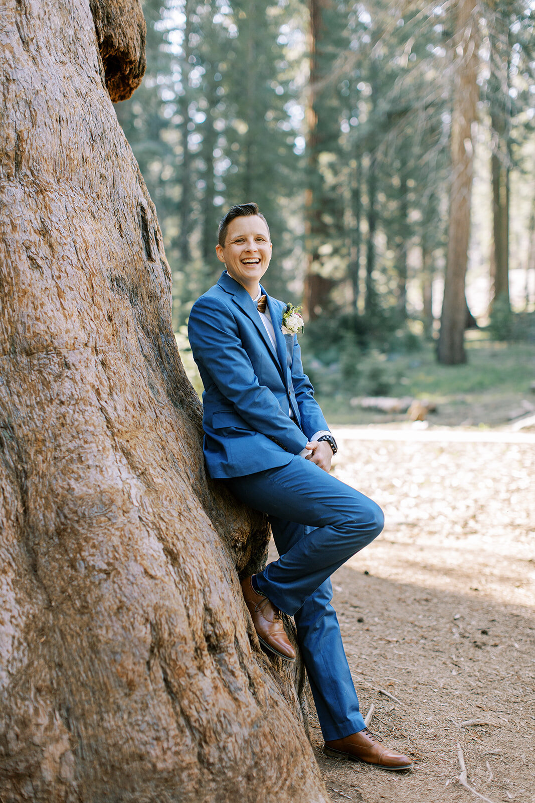
[[[386,526],[333,577],[364,713],[415,760],[389,773],[322,754],[333,803],[535,801],[535,434],[334,430],[334,475]]]

